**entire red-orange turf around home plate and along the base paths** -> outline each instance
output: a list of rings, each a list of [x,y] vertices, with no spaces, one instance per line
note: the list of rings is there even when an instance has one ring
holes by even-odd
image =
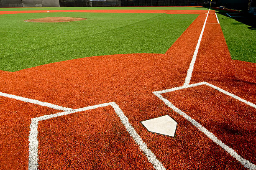
[[[30,12],[46,11],[5,11],[1,14]],[[0,71],[1,92],[72,109],[115,102],[166,169],[234,170],[255,167],[254,107],[206,85],[162,94],[251,163],[242,165],[243,161],[230,155],[153,94],[154,91],[183,86],[207,11],[51,12],[200,15],[165,54],[95,56],[13,73]],[[206,81],[256,103],[255,75],[255,64],[231,60],[216,15],[210,11],[189,83]],[[3,96],[0,103],[0,169],[28,169],[31,119],[63,111]],[[166,114],[178,123],[175,137],[153,134],[141,124],[141,121]],[[36,129],[39,169],[161,169],[161,166],[152,164],[154,161],[147,157],[148,153],[137,145],[138,137],[131,136],[111,106],[41,119]]]

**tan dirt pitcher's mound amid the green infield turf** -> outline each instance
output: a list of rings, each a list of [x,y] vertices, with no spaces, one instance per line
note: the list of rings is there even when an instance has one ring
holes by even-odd
[[[37,22],[37,23],[62,23],[62,22],[71,22],[77,20],[87,20],[87,18],[72,18],[72,17],[46,17],[46,18],[37,18],[31,20],[24,20],[25,22]]]

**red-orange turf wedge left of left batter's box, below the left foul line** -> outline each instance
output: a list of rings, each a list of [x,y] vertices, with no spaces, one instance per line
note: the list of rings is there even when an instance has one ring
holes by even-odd
[[[28,169],[28,135],[31,118],[58,110],[0,96],[0,169]]]

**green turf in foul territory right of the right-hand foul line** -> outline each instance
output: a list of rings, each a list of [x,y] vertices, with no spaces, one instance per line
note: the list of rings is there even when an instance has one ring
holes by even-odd
[[[255,28],[247,25],[248,18],[230,18],[226,13],[230,12],[225,11],[225,13],[218,13],[217,15],[231,58],[256,63]]]

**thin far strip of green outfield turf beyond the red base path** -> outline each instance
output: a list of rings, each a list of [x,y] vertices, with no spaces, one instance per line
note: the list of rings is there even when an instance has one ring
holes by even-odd
[[[35,7],[35,8],[0,8],[0,11],[17,10],[208,10],[203,7]]]

